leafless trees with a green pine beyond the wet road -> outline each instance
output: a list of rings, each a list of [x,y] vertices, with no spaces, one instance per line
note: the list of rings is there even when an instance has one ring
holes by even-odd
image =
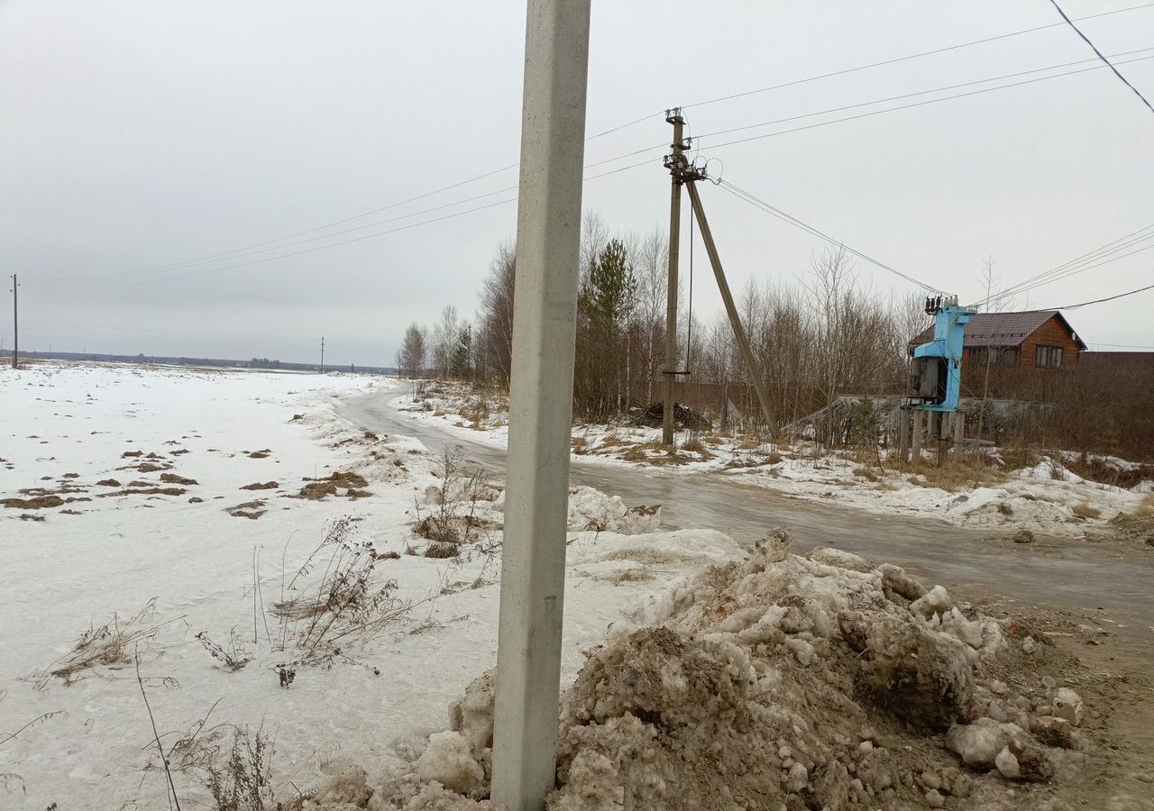
[[[583,220],[574,407],[608,420],[661,398],[665,368],[668,239],[614,233],[597,216]],[[432,330],[413,323],[397,354],[403,374],[508,385],[512,347],[516,249],[497,246],[481,285],[473,323],[445,307]],[[780,271],[774,273],[780,279]],[[916,295],[865,287],[848,255],[830,249],[792,281],[751,281],[739,296],[741,317],[774,413],[789,422],[845,393],[893,393],[907,377],[907,345],[928,322]],[[674,367],[702,404],[756,420],[749,370],[724,314],[703,323],[685,309],[677,320]],[[728,411],[728,407],[726,407]]]

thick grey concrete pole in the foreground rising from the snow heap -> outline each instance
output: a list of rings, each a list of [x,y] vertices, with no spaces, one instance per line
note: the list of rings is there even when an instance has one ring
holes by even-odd
[[[590,0],[530,0],[493,801],[541,811],[556,782]]]

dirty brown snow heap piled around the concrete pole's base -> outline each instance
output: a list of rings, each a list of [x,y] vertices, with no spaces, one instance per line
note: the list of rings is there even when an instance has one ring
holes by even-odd
[[[775,530],[614,629],[562,703],[550,811],[991,808],[987,787],[1076,757],[1077,694],[986,676],[1037,653],[1018,626],[898,566],[789,547]],[[497,808],[493,692],[492,673],[470,685],[403,773],[369,789],[354,769],[305,808]]]

